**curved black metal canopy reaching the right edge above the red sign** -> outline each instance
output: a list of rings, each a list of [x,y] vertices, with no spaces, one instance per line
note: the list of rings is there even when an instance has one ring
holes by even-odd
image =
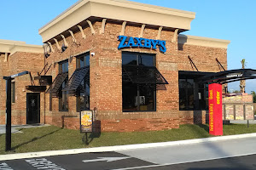
[[[211,74],[207,74],[204,77],[198,78],[200,82],[207,82],[209,84],[219,83],[225,84],[228,82],[236,82],[240,80],[254,79],[256,78],[256,70],[253,69],[237,69],[230,71],[220,71]]]

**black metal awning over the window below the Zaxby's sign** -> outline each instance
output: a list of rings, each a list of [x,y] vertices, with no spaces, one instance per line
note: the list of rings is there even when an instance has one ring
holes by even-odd
[[[136,84],[168,84],[154,66],[123,65],[123,82]]]

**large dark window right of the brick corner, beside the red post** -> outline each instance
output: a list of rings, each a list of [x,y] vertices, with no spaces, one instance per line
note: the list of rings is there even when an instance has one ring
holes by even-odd
[[[201,111],[208,109],[208,85],[198,81],[206,72],[179,71],[179,110]]]

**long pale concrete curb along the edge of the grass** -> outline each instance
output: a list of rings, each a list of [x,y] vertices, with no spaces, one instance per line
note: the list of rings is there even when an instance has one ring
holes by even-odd
[[[228,140],[228,139],[244,139],[244,138],[253,138],[253,137],[256,137],[256,133],[218,136],[218,137],[211,137],[211,138],[205,138],[205,139],[188,139],[188,140],[178,140],[178,141],[172,141],[172,142],[148,143],[148,144],[127,144],[127,145],[102,146],[102,147],[95,147],[95,148],[83,148],[83,149],[72,149],[72,150],[49,150],[49,151],[40,151],[40,152],[0,155],[0,161],[26,159],[26,158],[42,157],[42,156],[63,156],[63,155],[80,154],[80,153],[135,150],[135,149],[144,149],[144,148],[154,148],[154,147],[160,147],[160,146],[198,144],[198,143],[204,143],[204,142],[214,142],[214,141],[221,141],[221,140]]]

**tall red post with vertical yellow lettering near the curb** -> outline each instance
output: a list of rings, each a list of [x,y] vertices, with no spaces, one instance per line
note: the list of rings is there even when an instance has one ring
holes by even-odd
[[[209,84],[209,133],[212,135],[223,134],[222,120],[222,85]]]

